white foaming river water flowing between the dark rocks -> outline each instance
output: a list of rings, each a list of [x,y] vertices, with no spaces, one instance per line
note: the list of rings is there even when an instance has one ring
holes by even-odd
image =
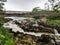
[[[24,17],[5,17],[5,18],[11,18],[13,20],[24,20],[24,19],[27,19],[27,18],[24,18]],[[16,25],[13,20],[9,21],[7,23],[4,23],[3,26],[5,28],[12,28],[12,31],[14,31],[14,32],[19,31],[19,32],[22,32],[24,34],[30,34],[30,35],[35,35],[35,36],[41,36],[41,34],[47,34],[47,33],[24,32],[24,30],[21,29],[18,25]],[[33,26],[38,26],[38,24],[36,23]],[[54,29],[54,31],[55,31],[55,34],[58,34],[58,31],[56,29]]]

